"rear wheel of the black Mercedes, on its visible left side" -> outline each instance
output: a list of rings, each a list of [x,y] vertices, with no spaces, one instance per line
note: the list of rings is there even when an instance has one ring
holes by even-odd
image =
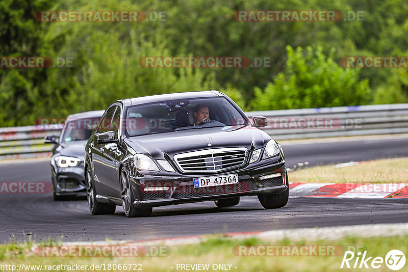
[[[97,214],[112,214],[115,213],[116,205],[108,203],[99,203],[96,201],[96,191],[93,185],[93,175],[91,170],[87,168],[86,175],[86,197],[88,200],[89,210],[93,215]]]

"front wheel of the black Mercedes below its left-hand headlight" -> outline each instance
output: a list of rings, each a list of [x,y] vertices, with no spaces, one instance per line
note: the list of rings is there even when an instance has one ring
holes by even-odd
[[[133,194],[129,175],[125,169],[120,172],[120,199],[122,200],[122,206],[124,214],[127,217],[148,217],[151,215],[152,208],[139,209],[133,205],[135,202],[135,196]]]

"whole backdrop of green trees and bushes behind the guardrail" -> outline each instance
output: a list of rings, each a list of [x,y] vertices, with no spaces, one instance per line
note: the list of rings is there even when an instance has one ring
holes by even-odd
[[[46,23],[34,19],[41,10],[164,12],[165,20]],[[245,22],[234,20],[237,10],[363,11],[363,20]],[[406,69],[338,65],[345,56],[408,56],[406,18],[403,0],[4,0],[0,56],[72,58],[72,67],[1,68],[0,126],[64,118],[120,98],[206,89],[246,110],[407,102]],[[272,65],[141,67],[148,56],[243,56]]]

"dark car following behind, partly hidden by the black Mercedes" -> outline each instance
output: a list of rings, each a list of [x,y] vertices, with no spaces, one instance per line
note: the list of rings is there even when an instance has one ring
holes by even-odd
[[[56,135],[45,137],[44,143],[55,144],[50,160],[54,200],[86,196],[85,145],[103,114],[93,111],[69,115],[59,139]]]

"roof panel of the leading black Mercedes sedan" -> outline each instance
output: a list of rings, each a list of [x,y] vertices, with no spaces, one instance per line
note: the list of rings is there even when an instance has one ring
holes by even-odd
[[[138,105],[138,104],[144,104],[144,103],[160,102],[164,100],[189,99],[189,98],[200,98],[200,97],[219,97],[219,96],[222,96],[220,92],[210,90],[210,91],[149,95],[149,96],[124,99],[120,101],[129,106],[129,105]]]

